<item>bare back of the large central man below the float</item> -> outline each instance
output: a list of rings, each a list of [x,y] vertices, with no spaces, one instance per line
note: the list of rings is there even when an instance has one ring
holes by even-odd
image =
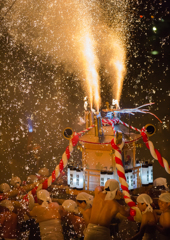
[[[110,226],[110,222],[118,212],[126,215],[125,208],[115,200],[104,200],[106,193],[95,191],[95,198],[91,210],[90,223],[105,227]],[[127,213],[128,216],[128,213]]]

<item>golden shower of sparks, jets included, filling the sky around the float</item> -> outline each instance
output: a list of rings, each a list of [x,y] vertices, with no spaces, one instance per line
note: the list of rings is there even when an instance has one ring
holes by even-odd
[[[167,128],[162,131],[169,134],[169,1],[1,2],[1,182],[12,173],[25,179],[44,165],[54,170],[67,146],[63,129],[82,130],[78,119],[83,119],[87,88],[101,105],[112,98],[120,99],[123,108],[155,102],[150,111],[163,120]],[[91,53],[85,55],[87,43]],[[96,88],[87,87],[91,76],[96,83],[100,79]],[[147,114],[144,124],[139,115],[131,117],[132,125],[154,121]],[[162,151],[169,153],[169,135],[166,139],[160,133],[157,142],[167,142]],[[74,152],[74,162],[80,159]]]

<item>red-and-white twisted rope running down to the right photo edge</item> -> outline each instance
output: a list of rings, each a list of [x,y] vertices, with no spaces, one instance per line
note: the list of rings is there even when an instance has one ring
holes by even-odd
[[[148,136],[146,134],[146,129],[145,127],[142,128],[141,130],[141,135],[143,137],[143,141],[146,145],[146,147],[150,150],[150,153],[152,157],[156,160],[158,160],[159,164],[165,168],[166,172],[170,174],[170,166],[165,158],[163,158],[160,154],[160,152],[154,148],[154,145],[151,141],[148,141]]]

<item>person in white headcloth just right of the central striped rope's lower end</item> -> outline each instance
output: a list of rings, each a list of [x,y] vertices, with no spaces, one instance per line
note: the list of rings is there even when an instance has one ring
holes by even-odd
[[[157,218],[153,212],[152,198],[148,194],[141,194],[137,197],[137,207],[142,213],[142,221],[139,232],[130,238],[130,240],[142,239],[152,240],[155,239],[155,230]]]

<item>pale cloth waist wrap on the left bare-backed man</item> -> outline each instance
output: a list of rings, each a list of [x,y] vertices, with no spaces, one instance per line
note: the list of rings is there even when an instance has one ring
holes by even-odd
[[[64,240],[60,219],[50,219],[39,223],[42,240]]]

